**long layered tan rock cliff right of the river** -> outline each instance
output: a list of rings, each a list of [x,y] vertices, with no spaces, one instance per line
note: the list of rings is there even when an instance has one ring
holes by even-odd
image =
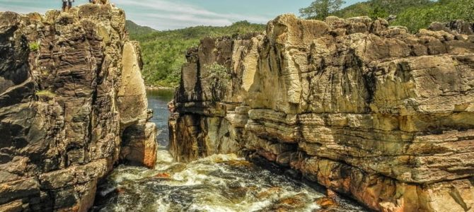
[[[177,160],[262,157],[377,211],[472,211],[473,25],[283,15],[204,39],[170,107]]]

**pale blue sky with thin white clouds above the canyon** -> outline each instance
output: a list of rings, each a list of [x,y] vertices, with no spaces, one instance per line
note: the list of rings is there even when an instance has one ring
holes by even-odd
[[[282,13],[295,13],[314,0],[111,0],[123,8],[127,19],[156,30],[173,30],[196,25],[231,25],[239,20],[267,23]],[[345,0],[345,6],[363,0]],[[76,0],[74,5],[87,4]],[[45,13],[60,9],[61,0],[0,0],[0,11]]]

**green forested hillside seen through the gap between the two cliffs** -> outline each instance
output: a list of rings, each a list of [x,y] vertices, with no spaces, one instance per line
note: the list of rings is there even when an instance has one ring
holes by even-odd
[[[132,40],[140,42],[146,85],[174,87],[180,81],[187,49],[199,45],[202,38],[261,33],[264,30],[265,25],[240,21],[226,27],[198,26],[153,33],[136,33],[130,28],[129,34]]]

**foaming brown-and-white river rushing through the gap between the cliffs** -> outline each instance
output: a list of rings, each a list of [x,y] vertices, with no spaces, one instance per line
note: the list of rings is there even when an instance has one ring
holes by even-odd
[[[98,187],[92,211],[366,211],[237,155],[175,163],[166,148],[172,98],[170,90],[148,92],[160,145],[155,169],[119,165]]]

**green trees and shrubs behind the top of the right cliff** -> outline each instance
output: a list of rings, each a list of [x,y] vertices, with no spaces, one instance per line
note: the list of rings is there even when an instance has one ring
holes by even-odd
[[[304,9],[306,8],[301,10]],[[370,0],[333,11],[327,16],[388,18],[394,15],[397,18],[391,22],[391,25],[404,25],[412,33],[416,33],[435,21],[449,22],[456,19],[474,21],[473,11],[474,0]],[[304,11],[301,11],[301,16],[320,20],[327,17],[326,15],[307,16]]]

